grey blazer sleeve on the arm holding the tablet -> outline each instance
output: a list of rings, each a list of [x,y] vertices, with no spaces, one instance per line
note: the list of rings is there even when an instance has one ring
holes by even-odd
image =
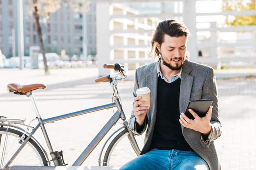
[[[202,88],[202,99],[213,99],[213,109],[212,109],[212,115],[211,115],[211,121],[210,125],[212,127],[212,130],[208,136],[207,140],[204,140],[202,134],[200,134],[201,138],[201,145],[206,148],[209,147],[209,145],[220,137],[222,132],[222,126],[219,120],[219,109],[218,109],[218,89],[216,85],[216,77],[213,68],[210,68],[207,77],[204,82],[204,86]]]

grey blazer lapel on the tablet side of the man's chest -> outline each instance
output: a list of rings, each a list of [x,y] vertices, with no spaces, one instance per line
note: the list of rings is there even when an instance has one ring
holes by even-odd
[[[180,113],[186,111],[186,107],[189,104],[191,88],[193,85],[193,76],[189,75],[192,71],[192,68],[189,64],[189,61],[184,62],[182,73],[181,73],[181,82],[180,82]],[[183,126],[182,131],[184,129]]]

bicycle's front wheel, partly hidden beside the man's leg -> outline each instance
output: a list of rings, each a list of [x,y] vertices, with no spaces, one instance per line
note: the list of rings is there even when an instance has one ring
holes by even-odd
[[[103,166],[122,166],[138,156],[135,150],[132,148],[132,144],[128,139],[128,135],[129,132],[127,129],[122,130],[111,141],[103,159]],[[122,141],[123,139],[125,139],[125,141]],[[121,142],[121,146],[117,146],[119,142]]]

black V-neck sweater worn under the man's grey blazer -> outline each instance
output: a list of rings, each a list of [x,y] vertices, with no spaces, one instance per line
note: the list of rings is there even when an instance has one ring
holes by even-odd
[[[182,135],[180,119],[180,78],[167,83],[160,76],[157,83],[157,117],[151,149],[192,150]]]

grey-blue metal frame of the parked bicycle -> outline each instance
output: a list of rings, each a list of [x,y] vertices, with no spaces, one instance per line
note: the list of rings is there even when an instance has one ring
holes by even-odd
[[[33,102],[34,108],[36,106],[34,97],[32,95],[32,93],[30,94],[31,100]],[[109,108],[114,108],[117,107],[117,111],[115,112],[115,114],[109,119],[109,121],[105,124],[105,126],[103,126],[103,128],[99,131],[99,133],[96,135],[96,137],[94,137],[94,139],[92,139],[92,141],[90,142],[90,144],[85,148],[85,150],[81,153],[81,155],[76,159],[76,161],[72,164],[72,166],[81,166],[81,164],[85,161],[85,159],[90,155],[90,153],[94,150],[94,148],[96,148],[96,146],[99,144],[99,142],[103,139],[103,137],[105,137],[105,135],[109,132],[109,130],[112,128],[112,126],[114,126],[117,121],[119,120],[119,118],[121,118],[123,120],[123,124],[124,127],[128,129],[130,137],[132,139],[132,145],[139,150],[138,146],[137,146],[137,142],[135,140],[134,135],[132,134],[132,132],[130,131],[130,129],[128,128],[128,122],[126,121],[126,117],[124,115],[124,112],[122,110],[121,104],[119,102],[119,98],[117,96],[114,97],[114,101],[113,103],[110,104],[106,104],[106,105],[102,105],[102,106],[97,106],[94,108],[88,108],[85,110],[80,110],[77,112],[73,112],[73,113],[67,113],[65,115],[60,115],[60,116],[56,116],[56,117],[51,117],[48,119],[42,119],[39,115],[39,112],[37,110],[37,107],[35,108],[36,110],[36,114],[38,116],[38,121],[39,123],[37,124],[37,126],[31,131],[31,133],[28,135],[28,137],[25,139],[25,141],[23,141],[22,145],[20,146],[20,148],[18,148],[18,150],[15,152],[15,154],[11,157],[11,159],[6,163],[6,165],[3,167],[3,169],[7,169],[8,166],[10,165],[10,163],[16,158],[16,156],[19,154],[19,152],[22,150],[22,148],[25,146],[25,144],[27,143],[27,141],[32,137],[32,135],[34,135],[34,133],[36,132],[36,130],[40,127],[42,132],[43,132],[43,136],[45,137],[45,141],[47,143],[47,146],[49,148],[50,151],[50,155],[52,156],[52,159],[55,158],[54,155],[54,151],[52,149],[52,145],[50,143],[49,137],[47,135],[47,132],[45,130],[45,126],[44,124],[47,123],[51,123],[54,121],[59,121],[62,119],[67,119],[70,117],[76,117],[79,115],[84,115],[87,113],[92,113],[95,111],[99,111],[99,110],[105,110],[105,109],[109,109]],[[54,162],[55,166],[58,166],[58,163]],[[16,168],[18,166],[15,166]],[[24,168],[24,166],[22,166]]]

